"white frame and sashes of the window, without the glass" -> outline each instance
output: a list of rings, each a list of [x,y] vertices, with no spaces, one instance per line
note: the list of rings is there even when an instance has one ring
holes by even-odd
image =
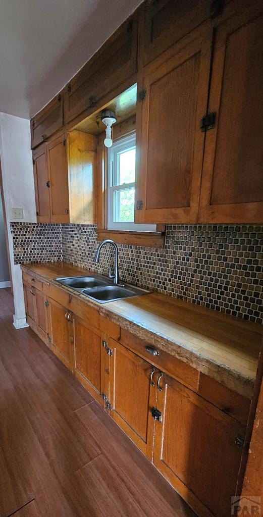
[[[136,148],[136,134],[131,133],[113,142],[112,147],[107,153],[107,229],[121,230],[130,232],[156,232],[156,224],[138,224],[134,222],[115,222],[114,221],[114,193],[128,188],[135,189],[134,183],[126,183],[114,186],[114,178],[118,176],[117,155],[121,151]]]

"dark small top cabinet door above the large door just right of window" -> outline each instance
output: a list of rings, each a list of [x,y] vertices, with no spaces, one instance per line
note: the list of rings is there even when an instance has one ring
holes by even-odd
[[[210,16],[209,0],[146,0],[144,63],[171,47]]]

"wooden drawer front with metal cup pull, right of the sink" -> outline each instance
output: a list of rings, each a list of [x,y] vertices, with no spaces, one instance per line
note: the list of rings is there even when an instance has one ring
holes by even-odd
[[[154,346],[159,352],[158,356],[153,356],[147,352],[147,346],[153,346],[149,341],[144,341],[131,334],[128,330],[121,329],[121,344],[130,348],[138,355],[146,359],[148,362],[168,373],[185,386],[197,390],[199,382],[199,372],[189,366],[189,364],[180,361],[176,357],[167,354],[158,347]]]

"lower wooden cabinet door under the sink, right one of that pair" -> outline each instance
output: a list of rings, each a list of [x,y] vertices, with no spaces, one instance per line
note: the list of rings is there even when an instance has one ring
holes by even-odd
[[[74,316],[74,370],[79,381],[96,398],[101,396],[100,331]]]

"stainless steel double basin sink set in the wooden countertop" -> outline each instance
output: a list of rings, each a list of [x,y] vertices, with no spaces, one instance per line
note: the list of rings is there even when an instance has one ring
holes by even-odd
[[[142,296],[149,293],[149,291],[134,287],[133,285],[114,284],[109,278],[102,275],[56,278],[55,280],[99,303],[130,298],[132,296]]]

